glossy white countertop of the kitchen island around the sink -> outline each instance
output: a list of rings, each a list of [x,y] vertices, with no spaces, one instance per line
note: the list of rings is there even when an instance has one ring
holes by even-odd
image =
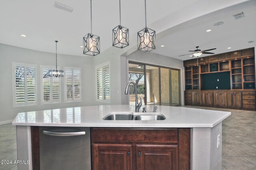
[[[12,125],[60,127],[214,127],[231,115],[226,111],[157,106],[165,120],[103,120],[110,112],[135,111],[134,105],[84,106],[18,113]],[[147,105],[152,112],[153,106]],[[142,109],[140,109],[141,114]],[[150,114],[150,113],[149,113]]]

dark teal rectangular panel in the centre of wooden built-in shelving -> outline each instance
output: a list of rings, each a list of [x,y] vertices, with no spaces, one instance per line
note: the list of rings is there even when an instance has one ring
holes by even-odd
[[[230,87],[230,71],[201,74],[202,90],[224,90]]]

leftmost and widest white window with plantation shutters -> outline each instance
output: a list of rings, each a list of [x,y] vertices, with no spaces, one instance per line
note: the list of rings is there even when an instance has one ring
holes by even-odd
[[[13,106],[37,105],[36,65],[12,63]]]

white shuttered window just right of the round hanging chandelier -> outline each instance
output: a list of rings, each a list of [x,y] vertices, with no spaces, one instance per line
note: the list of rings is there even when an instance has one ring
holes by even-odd
[[[64,67],[65,102],[82,102],[81,68]]]

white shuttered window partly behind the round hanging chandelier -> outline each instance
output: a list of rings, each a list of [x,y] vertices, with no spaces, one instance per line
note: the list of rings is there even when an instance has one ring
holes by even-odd
[[[42,104],[53,104],[61,102],[60,78],[48,76],[47,74],[51,69],[56,69],[56,67],[41,65],[40,76]]]

